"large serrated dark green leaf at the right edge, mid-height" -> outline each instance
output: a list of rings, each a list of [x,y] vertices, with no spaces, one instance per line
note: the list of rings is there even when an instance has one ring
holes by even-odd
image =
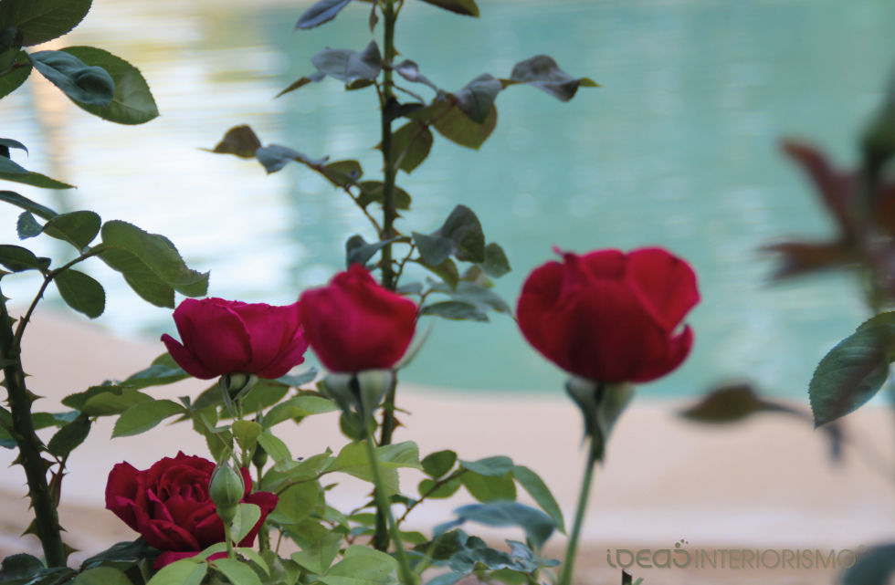
[[[817,364],[808,386],[815,426],[851,413],[889,377],[895,353],[895,312],[868,319]]]

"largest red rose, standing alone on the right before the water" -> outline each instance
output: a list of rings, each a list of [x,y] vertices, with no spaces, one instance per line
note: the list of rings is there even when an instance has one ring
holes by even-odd
[[[536,268],[516,314],[525,339],[548,360],[595,381],[650,381],[690,353],[700,299],[696,275],[661,248],[598,250]]]

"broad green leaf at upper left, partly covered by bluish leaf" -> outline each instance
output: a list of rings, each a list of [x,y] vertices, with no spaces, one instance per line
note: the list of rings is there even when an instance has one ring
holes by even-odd
[[[119,124],[142,124],[158,117],[159,110],[153,93],[138,68],[101,48],[67,47],[62,50],[79,58],[85,65],[104,69],[114,84],[115,91],[108,105],[73,99],[79,108]]]

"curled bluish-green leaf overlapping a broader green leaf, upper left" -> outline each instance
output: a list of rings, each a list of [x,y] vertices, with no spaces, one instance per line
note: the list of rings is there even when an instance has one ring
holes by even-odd
[[[31,64],[76,104],[106,108],[115,96],[115,82],[101,67],[90,66],[63,51],[37,51]]]

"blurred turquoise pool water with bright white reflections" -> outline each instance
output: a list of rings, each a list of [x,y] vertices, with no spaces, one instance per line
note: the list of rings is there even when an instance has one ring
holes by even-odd
[[[264,142],[356,158],[368,176],[380,163],[371,148],[378,141],[371,92],[344,92],[327,80],[271,99],[311,72],[316,50],[365,46],[365,5],[292,34],[309,3],[288,4],[98,0],[64,45],[104,47],[137,64],[163,116],[126,128],[65,107],[52,125],[68,146],[53,159],[55,143],[23,115],[31,96],[19,89],[0,104],[5,136],[29,146],[29,168],[79,185],[58,205],[170,236],[192,265],[212,270],[213,295],[290,302],[340,268],[345,238],[371,239],[362,218],[298,166],[265,176],[256,163],[199,149],[249,123]],[[537,53],[604,87],[567,104],[531,88],[501,93],[498,128],[481,151],[439,138],[426,164],[399,177],[414,196],[405,227],[434,229],[453,205],[469,204],[511,257],[514,272],[499,286],[511,302],[552,245],[669,247],[700,274],[703,301],[690,319],[697,344],[680,371],[645,392],[691,394],[748,376],[769,391],[804,396],[816,360],[863,312],[844,277],[763,286],[771,266],[756,253],[760,245],[830,229],[776,141],[807,137],[840,162],[854,159],[856,129],[895,61],[895,11],[873,0],[480,5],[476,20],[408,3],[399,49],[447,89],[484,71],[506,76]],[[47,193],[20,191],[51,203]],[[14,216],[2,213],[0,229],[9,230]],[[142,304],[112,275],[100,279],[116,283],[104,323],[153,335],[171,329],[167,310]],[[24,298],[32,285],[12,293]],[[559,388],[563,375],[535,357],[511,319],[492,320],[438,321],[405,377]]]

